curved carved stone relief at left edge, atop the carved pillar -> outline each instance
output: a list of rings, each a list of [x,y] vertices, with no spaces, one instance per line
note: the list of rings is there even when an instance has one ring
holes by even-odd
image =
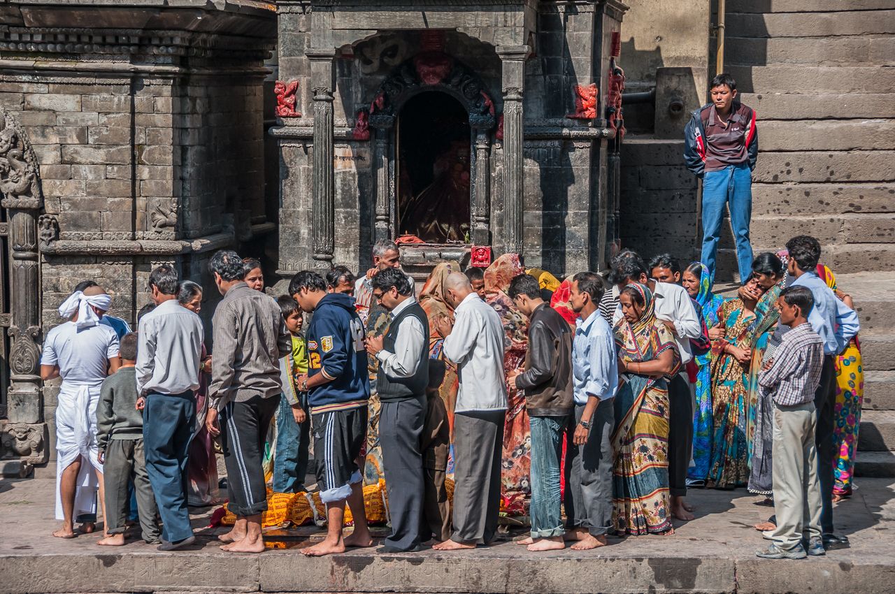
[[[28,135],[6,110],[0,130],[0,194],[4,199],[42,199],[37,157]]]

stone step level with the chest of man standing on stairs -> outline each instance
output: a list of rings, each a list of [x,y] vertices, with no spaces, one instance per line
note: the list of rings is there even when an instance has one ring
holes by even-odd
[[[895,44],[892,55],[895,56]],[[895,101],[895,97],[891,100]],[[895,148],[895,118],[761,121],[758,123],[758,132],[762,155],[770,151]]]

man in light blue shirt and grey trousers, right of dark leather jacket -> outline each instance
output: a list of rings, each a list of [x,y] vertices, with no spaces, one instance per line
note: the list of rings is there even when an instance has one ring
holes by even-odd
[[[588,550],[607,544],[612,527],[612,431],[618,355],[600,310],[603,283],[594,272],[572,277],[569,304],[579,314],[572,341],[574,429],[567,432],[566,539]]]

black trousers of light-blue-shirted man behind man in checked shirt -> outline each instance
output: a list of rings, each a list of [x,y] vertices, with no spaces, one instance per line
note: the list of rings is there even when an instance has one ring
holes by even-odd
[[[817,446],[817,480],[821,483],[821,532],[833,533],[833,458],[836,446],[833,430],[836,421],[836,356],[823,355],[821,383],[814,392],[817,427],[814,445]]]

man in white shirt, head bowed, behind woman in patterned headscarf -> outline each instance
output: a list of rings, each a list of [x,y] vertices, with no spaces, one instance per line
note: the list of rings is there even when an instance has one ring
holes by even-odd
[[[690,339],[702,335],[702,325],[696,316],[693,302],[686,289],[679,284],[657,283],[646,273],[642,259],[618,260],[612,269],[612,282],[623,288],[626,284],[646,284],[652,291],[656,318],[665,322],[674,335],[680,353],[680,369],[693,359]],[[613,321],[622,317],[618,306]],[[686,378],[686,370],[669,381],[669,493],[671,513],[678,520],[693,520],[692,508],[684,502],[686,470],[690,466],[693,449],[693,394]]]

